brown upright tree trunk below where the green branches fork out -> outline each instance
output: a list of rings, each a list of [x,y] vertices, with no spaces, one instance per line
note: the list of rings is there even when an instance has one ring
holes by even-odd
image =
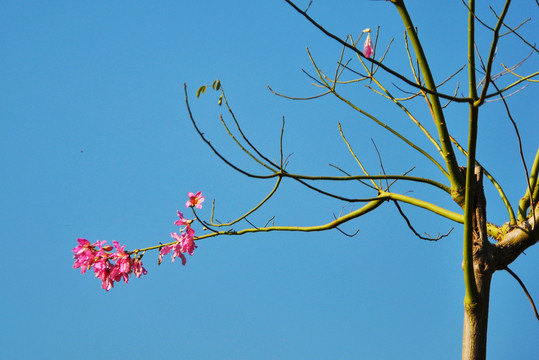
[[[494,273],[493,246],[487,236],[486,200],[483,191],[483,170],[475,169],[473,214],[473,265],[479,301],[464,306],[462,359],[485,360],[490,281]]]

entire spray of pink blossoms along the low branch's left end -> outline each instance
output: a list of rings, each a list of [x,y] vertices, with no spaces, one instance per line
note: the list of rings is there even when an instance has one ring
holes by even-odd
[[[185,207],[196,207],[202,209],[202,203],[205,197],[202,196],[202,192],[196,194],[187,194],[189,200],[185,204]],[[185,253],[193,255],[193,252],[197,248],[195,245],[195,231],[191,227],[191,223],[194,220],[189,220],[183,217],[183,214],[178,211],[179,220],[174,222],[174,225],[180,226],[180,234],[171,233],[175,242],[159,247],[158,264],[161,264],[163,256],[172,252],[172,261],[176,257],[182,260],[182,265],[185,265],[187,259]],[[137,278],[141,275],[146,275],[148,272],[142,267],[142,255],[138,256],[138,252],[144,253],[146,249],[136,250],[135,252],[126,252],[125,245],[120,246],[116,240],[112,243],[114,248],[110,245],[105,245],[106,241],[97,241],[91,244],[88,240],[79,238],[77,240],[79,245],[73,249],[73,258],[75,263],[73,268],[80,268],[80,272],[84,274],[86,270],[93,267],[95,276],[102,281],[101,287],[107,291],[114,287],[114,282],[124,280],[125,283],[129,282],[129,276],[135,274]],[[156,247],[148,248],[155,249]],[[116,249],[115,252],[112,252]],[[131,257],[135,254],[134,258]]]

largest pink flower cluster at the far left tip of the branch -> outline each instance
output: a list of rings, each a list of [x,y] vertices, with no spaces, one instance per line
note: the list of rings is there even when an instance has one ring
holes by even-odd
[[[136,277],[146,275],[148,272],[142,267],[141,257],[131,258],[131,255],[125,252],[125,245],[120,247],[120,243],[114,240],[114,248],[105,245],[106,241],[97,241],[91,244],[86,239],[78,239],[79,245],[73,249],[73,258],[75,264],[73,268],[80,268],[84,274],[86,270],[94,268],[95,276],[102,281],[101,287],[109,291],[115,281],[124,280],[129,282],[129,275],[132,273]]]

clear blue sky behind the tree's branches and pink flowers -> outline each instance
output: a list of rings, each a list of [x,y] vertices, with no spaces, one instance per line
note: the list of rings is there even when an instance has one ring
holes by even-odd
[[[308,1],[298,2],[306,7]],[[466,63],[465,7],[460,1],[407,1],[438,82]],[[497,11],[500,12],[499,4]],[[389,2],[318,1],[309,14],[339,36],[380,26],[378,54],[391,38],[387,64],[410,76],[403,26]],[[493,24],[487,8],[480,14]],[[514,2],[513,26],[537,41],[533,1]],[[491,35],[480,31],[486,57]],[[526,57],[514,36],[498,46],[496,69]],[[0,11],[0,276],[1,359],[456,359],[460,357],[464,286],[462,226],[403,206],[421,233],[453,232],[438,242],[418,239],[395,207],[346,224],[350,238],[329,232],[270,233],[198,242],[187,265],[146,253],[148,275],[110,292],[93,274],[72,269],[79,237],[118,240],[128,249],[170,241],[176,210],[189,191],[202,190],[208,219],[233,219],[256,204],[273,182],[248,179],[223,164],[198,138],[186,111],[188,84],[195,117],[212,144],[245,169],[265,173],[228,138],[217,95],[196,99],[203,84],[221,79],[246,134],[288,170],[339,175],[361,170],[337,123],[371,173],[443,177],[429,162],[335,98],[278,98],[319,93],[301,69],[315,74],[305,51],[333,74],[340,47],[284,1],[3,1]],[[353,58],[351,67],[361,69]],[[537,71],[537,54],[517,70]],[[383,75],[395,96],[406,96]],[[348,79],[353,74],[346,74]],[[457,81],[467,93],[465,71]],[[505,80],[500,80],[504,84]],[[507,80],[509,81],[509,80]],[[432,154],[417,128],[361,83],[342,91]],[[409,90],[409,89],[408,89]],[[519,123],[528,165],[537,151],[537,86],[508,101]],[[432,129],[424,102],[408,103]],[[516,136],[501,102],[481,113],[478,158],[504,186],[513,205],[525,191]],[[466,109],[451,104],[447,121],[465,142]],[[462,160],[462,157],[459,158]],[[361,184],[326,184],[352,197],[373,196]],[[397,183],[408,192],[458,208],[441,192]],[[413,192],[411,192],[413,191]],[[486,185],[489,220],[507,221]],[[357,208],[357,205],[354,205]],[[329,222],[350,204],[286,182],[249,220],[263,226]],[[186,212],[188,214],[188,212]],[[235,229],[250,227],[242,222]],[[202,234],[200,227],[197,234]],[[539,301],[537,247],[511,268]],[[489,359],[537,359],[539,327],[517,282],[494,275]]]

